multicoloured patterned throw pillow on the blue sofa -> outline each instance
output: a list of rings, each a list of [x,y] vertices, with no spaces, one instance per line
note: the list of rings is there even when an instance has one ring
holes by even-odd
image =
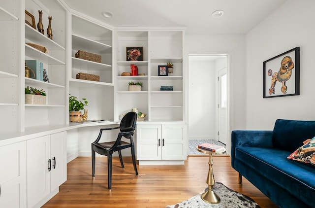
[[[287,158],[315,166],[315,137],[307,139],[303,143],[303,146],[299,147]]]

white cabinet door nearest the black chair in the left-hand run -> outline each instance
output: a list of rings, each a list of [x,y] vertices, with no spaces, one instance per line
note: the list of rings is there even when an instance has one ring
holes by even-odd
[[[50,190],[54,191],[67,179],[66,161],[66,132],[50,136],[51,183]]]

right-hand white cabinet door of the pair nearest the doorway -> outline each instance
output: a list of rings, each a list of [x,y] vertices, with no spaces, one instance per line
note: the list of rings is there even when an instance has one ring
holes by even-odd
[[[187,126],[162,124],[162,160],[185,160]]]

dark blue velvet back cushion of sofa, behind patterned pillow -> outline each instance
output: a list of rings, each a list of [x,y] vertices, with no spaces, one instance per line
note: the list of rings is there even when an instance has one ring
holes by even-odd
[[[304,140],[315,137],[315,121],[278,119],[272,135],[274,147],[290,153],[301,146]]]

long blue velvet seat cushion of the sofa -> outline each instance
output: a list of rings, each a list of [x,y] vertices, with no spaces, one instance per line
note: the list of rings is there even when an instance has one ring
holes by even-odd
[[[235,150],[237,160],[246,161],[257,173],[315,207],[315,169],[286,159],[289,154],[285,150],[261,147],[237,147]]]

